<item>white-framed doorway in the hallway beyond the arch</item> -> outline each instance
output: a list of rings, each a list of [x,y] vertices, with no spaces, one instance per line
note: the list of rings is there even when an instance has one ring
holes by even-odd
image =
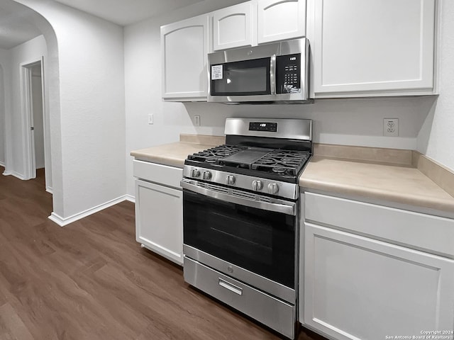
[[[50,166],[47,162],[50,150],[46,147],[43,60],[22,64],[21,74],[26,179],[35,179],[37,174],[40,179],[46,177],[45,188],[50,191],[44,174]]]

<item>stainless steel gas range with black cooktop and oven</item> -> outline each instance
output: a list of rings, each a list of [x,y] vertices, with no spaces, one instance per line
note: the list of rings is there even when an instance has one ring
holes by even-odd
[[[184,280],[293,339],[312,122],[228,118],[225,133],[184,162]]]

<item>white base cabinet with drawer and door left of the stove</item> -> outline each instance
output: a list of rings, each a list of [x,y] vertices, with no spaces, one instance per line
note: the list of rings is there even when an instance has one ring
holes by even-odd
[[[177,188],[182,169],[134,161],[134,176],[136,241],[182,265],[183,195]]]

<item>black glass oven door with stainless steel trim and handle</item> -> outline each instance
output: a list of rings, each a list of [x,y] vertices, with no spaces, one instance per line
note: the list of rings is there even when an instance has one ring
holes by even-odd
[[[294,301],[297,205],[182,186],[184,255]]]

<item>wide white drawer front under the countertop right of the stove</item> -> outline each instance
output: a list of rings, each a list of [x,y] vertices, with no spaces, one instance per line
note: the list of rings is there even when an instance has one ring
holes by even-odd
[[[454,258],[454,220],[305,193],[305,219]]]

